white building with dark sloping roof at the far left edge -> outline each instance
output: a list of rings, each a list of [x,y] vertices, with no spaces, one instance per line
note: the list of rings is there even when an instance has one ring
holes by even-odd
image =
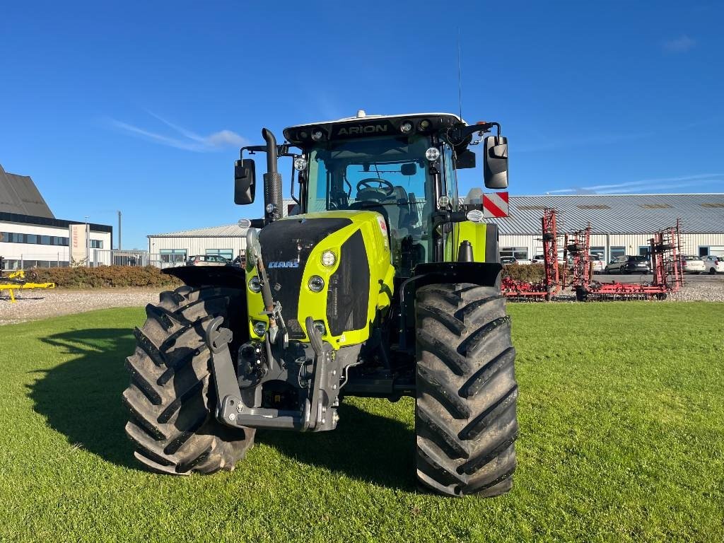
[[[112,235],[105,224],[56,219],[30,177],[0,166],[3,269],[109,264]]]

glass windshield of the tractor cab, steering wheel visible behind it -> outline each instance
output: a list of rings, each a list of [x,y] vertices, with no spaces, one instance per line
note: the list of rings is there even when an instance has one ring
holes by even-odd
[[[424,136],[329,142],[309,153],[307,211],[358,209],[384,216],[393,264],[410,245],[416,262],[432,258],[433,182]],[[396,261],[395,261],[396,260]]]

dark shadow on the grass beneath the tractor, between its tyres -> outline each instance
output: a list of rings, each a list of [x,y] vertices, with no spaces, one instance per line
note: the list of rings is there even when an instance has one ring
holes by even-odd
[[[392,489],[416,489],[415,435],[408,426],[344,403],[339,413],[340,423],[331,432],[300,434],[257,430],[254,440],[332,473],[344,473],[350,478]]]

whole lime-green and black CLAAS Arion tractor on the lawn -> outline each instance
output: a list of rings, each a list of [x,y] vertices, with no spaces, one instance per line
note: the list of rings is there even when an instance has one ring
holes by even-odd
[[[135,329],[123,394],[135,458],[161,473],[232,470],[258,428],[323,432],[346,396],[411,396],[421,485],[508,492],[518,387],[497,227],[456,180],[479,145],[485,186],[508,186],[500,125],[359,111],[284,135],[262,130],[266,144],[235,165],[235,202],[252,203],[244,153],[266,153],[265,216],[240,221],[245,267],[167,269],[185,286]],[[279,156],[294,167],[289,216]]]

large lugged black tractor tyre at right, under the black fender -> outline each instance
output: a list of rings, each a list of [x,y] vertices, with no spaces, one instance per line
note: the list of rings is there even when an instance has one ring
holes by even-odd
[[[442,494],[513,487],[515,349],[500,287],[417,291],[417,476]]]

